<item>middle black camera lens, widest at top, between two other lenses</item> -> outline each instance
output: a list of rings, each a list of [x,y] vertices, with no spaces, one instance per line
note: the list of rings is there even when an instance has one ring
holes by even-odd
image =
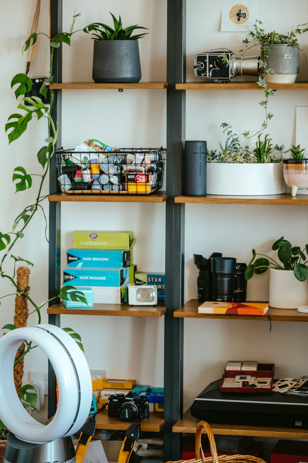
[[[233,302],[236,259],[234,257],[212,257],[211,270],[213,301]]]

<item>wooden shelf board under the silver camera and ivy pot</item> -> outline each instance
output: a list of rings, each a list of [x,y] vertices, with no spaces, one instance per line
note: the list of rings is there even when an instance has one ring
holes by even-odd
[[[295,82],[293,84],[268,84],[273,90],[308,90],[308,82]],[[176,90],[261,90],[256,82],[183,82],[175,84]]]

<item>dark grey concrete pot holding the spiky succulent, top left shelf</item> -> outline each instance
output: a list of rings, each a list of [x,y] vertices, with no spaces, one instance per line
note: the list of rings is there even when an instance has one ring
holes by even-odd
[[[94,40],[92,79],[97,83],[139,82],[137,40]]]

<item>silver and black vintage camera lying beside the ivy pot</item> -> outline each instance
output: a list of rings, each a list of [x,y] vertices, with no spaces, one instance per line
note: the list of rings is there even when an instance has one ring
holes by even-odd
[[[223,59],[223,53],[226,60]],[[215,79],[218,82],[229,82],[237,75],[259,75],[260,56],[236,56],[231,50],[216,50],[199,53],[194,58],[194,73],[198,79]]]

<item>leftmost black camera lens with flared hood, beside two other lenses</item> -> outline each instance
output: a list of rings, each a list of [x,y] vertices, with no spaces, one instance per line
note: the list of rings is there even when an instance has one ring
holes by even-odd
[[[221,257],[220,252],[214,252],[211,257]],[[198,301],[200,303],[206,300],[212,300],[213,297],[213,276],[211,272],[211,257],[205,259],[200,254],[193,255],[193,263],[199,269],[199,275],[197,277],[198,285]]]

